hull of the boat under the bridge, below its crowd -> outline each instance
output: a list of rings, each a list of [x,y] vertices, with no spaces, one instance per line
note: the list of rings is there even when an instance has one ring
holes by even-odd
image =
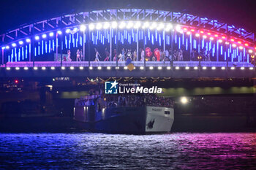
[[[167,107],[114,107],[96,112],[91,121],[89,109],[75,108],[75,120],[93,124],[90,131],[118,134],[148,134],[170,132],[173,108]],[[83,113],[81,113],[83,112]]]

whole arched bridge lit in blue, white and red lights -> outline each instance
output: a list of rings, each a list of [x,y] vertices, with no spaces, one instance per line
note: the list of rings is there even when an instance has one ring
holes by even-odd
[[[254,33],[180,12],[93,10],[22,25],[0,38],[0,77],[256,75]]]

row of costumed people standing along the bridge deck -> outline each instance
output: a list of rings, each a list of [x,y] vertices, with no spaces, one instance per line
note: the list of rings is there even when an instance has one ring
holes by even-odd
[[[206,48],[200,50],[200,53],[197,50],[192,50],[189,53],[184,49],[172,50],[171,48],[151,50],[150,47],[146,47],[145,49],[140,48],[139,51],[122,48],[120,51],[114,49],[113,54],[109,52],[108,48],[105,48],[105,54],[99,53],[99,50],[94,48],[94,61],[212,61],[211,55],[211,50],[206,50]],[[112,59],[110,59],[111,56]],[[64,61],[73,61],[70,50],[67,50],[67,57],[64,57]],[[83,50],[76,51],[75,61],[86,61]]]

